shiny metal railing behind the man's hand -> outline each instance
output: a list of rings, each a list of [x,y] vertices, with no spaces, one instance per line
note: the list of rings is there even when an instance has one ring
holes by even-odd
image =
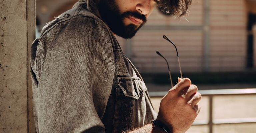
[[[256,117],[252,118],[230,118],[213,119],[213,97],[220,95],[255,95],[256,89],[225,89],[225,90],[199,90],[202,96],[209,98],[209,120],[197,120],[193,125],[208,125],[209,133],[213,133],[214,124],[234,124],[234,123],[256,123]],[[163,97],[167,92],[149,92],[151,98]]]

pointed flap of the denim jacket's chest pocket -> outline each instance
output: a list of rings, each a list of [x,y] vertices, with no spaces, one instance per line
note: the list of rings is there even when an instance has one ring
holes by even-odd
[[[121,88],[123,94],[117,94],[118,96],[126,96],[134,99],[139,97],[147,91],[145,83],[137,76],[118,76],[117,84]]]

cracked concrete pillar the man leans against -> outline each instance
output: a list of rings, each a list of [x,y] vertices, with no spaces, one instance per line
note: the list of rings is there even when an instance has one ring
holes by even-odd
[[[0,0],[0,132],[34,131],[29,51],[35,0]]]

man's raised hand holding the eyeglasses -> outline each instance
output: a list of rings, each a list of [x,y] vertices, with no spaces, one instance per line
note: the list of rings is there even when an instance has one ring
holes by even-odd
[[[161,100],[157,120],[165,123],[173,133],[185,133],[200,111],[197,103],[201,98],[190,79],[179,78],[177,85]]]

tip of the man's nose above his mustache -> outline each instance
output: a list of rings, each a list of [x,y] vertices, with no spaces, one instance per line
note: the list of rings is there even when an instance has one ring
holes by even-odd
[[[150,11],[150,0],[139,0],[136,10],[143,15],[148,14]]]

